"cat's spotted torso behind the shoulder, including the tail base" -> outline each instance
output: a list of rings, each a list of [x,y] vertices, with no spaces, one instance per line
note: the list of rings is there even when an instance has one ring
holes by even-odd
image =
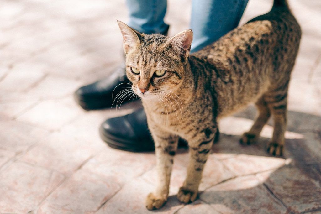
[[[218,112],[230,114],[289,81],[300,38],[300,26],[287,3],[275,0],[269,13],[192,54],[191,67],[217,92]]]

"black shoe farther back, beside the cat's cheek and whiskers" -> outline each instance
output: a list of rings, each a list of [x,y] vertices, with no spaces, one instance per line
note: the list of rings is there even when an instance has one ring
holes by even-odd
[[[85,110],[108,108],[113,105],[113,99],[118,93],[131,88],[129,83],[130,81],[125,74],[125,65],[122,64],[109,77],[76,90],[74,97],[76,102]],[[114,106],[116,106],[119,97],[115,99]],[[133,96],[127,96],[124,102],[128,101],[130,97],[133,98]]]

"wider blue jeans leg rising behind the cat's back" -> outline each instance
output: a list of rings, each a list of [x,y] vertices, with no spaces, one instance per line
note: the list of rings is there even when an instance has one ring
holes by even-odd
[[[191,52],[198,51],[239,25],[248,0],[193,0]]]

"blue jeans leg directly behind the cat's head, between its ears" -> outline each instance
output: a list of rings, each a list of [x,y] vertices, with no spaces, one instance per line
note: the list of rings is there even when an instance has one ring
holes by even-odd
[[[167,32],[169,25],[164,22],[166,0],[127,0],[128,26],[146,33]]]

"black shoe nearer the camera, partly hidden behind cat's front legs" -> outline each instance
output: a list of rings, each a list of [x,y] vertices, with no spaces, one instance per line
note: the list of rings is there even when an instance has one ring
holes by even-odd
[[[135,152],[155,150],[143,108],[129,115],[106,120],[101,124],[99,133],[101,139],[115,149]],[[218,137],[219,132],[214,141]],[[179,139],[178,147],[187,147],[187,142]]]

